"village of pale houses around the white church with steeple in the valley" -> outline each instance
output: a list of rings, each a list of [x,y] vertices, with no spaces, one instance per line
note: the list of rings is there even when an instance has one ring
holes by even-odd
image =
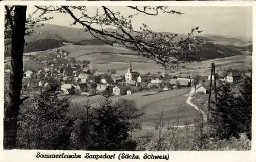
[[[30,82],[37,83],[41,88],[55,85],[59,95],[81,96],[102,95],[107,90],[110,95],[129,95],[150,89],[161,92],[192,85],[196,85],[195,92],[209,93],[210,75],[195,82],[191,76],[184,78],[160,72],[140,74],[132,70],[131,63],[128,64],[125,75],[118,75],[115,69],[108,69],[105,73],[98,72],[96,68],[89,66],[88,61],[68,58],[68,53],[63,50],[53,49],[50,54],[53,57],[51,61],[35,58],[37,62],[45,65],[44,68],[38,68],[37,71],[24,69],[23,83],[28,83],[26,86],[29,86]],[[10,69],[5,68],[5,72],[9,71]],[[218,87],[219,82],[238,83],[241,78],[242,74],[230,72],[226,76],[216,73],[212,79],[218,80]]]

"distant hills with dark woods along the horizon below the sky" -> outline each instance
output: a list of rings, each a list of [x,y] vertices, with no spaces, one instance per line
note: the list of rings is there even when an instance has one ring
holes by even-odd
[[[105,29],[108,31],[113,31],[114,29],[108,28]],[[72,43],[75,45],[106,45],[104,42],[96,39],[88,32],[84,32],[83,29],[80,28],[72,28],[66,26],[52,25],[52,24],[44,24],[40,28],[34,29],[35,33],[32,36],[26,36],[26,52],[35,52],[42,51],[47,49],[52,49],[61,46],[61,42]],[[162,34],[171,34],[169,32],[161,32]],[[135,33],[132,33],[133,35]],[[184,34],[180,34],[176,40],[179,40],[181,37],[186,37]],[[238,38],[226,38],[223,36],[200,36],[199,38],[204,39],[207,43],[200,47],[200,52],[197,53],[197,59],[207,60],[214,59],[220,57],[228,57],[233,55],[240,55],[240,51],[243,49],[236,48],[233,45],[220,45],[218,43],[214,43],[217,41],[225,42],[227,41],[239,41],[244,42]],[[252,48],[252,45],[250,49]],[[9,56],[9,52],[5,52],[5,57]],[[190,60],[189,60],[190,61]]]

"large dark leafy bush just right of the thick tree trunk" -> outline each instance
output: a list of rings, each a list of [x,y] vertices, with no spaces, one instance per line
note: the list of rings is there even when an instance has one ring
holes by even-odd
[[[27,103],[26,107],[25,105],[22,107],[19,117],[17,147],[20,149],[69,149],[75,119],[68,115],[68,99],[60,100],[53,89],[46,89]]]

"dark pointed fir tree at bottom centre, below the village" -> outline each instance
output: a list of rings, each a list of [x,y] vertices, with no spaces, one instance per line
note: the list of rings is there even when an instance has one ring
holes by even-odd
[[[91,145],[89,150],[122,150],[122,143],[129,138],[129,122],[123,118],[124,110],[111,105],[109,94],[100,107],[94,109]]]

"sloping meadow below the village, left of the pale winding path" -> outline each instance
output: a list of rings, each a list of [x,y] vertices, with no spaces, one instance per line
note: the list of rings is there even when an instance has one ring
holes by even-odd
[[[159,114],[164,112],[163,120],[174,123],[177,119],[179,125],[190,124],[193,116],[197,111],[186,104],[190,88],[174,89],[165,92],[144,91],[124,96],[112,96],[112,102],[117,103],[119,99],[129,99],[136,102],[136,106],[140,112],[146,113],[139,121],[143,127],[154,127],[159,120]],[[143,96],[146,94],[152,94]],[[72,101],[77,104],[86,104],[87,97],[72,97]],[[92,106],[99,106],[100,101],[104,98],[102,96],[89,97],[89,103]]]

